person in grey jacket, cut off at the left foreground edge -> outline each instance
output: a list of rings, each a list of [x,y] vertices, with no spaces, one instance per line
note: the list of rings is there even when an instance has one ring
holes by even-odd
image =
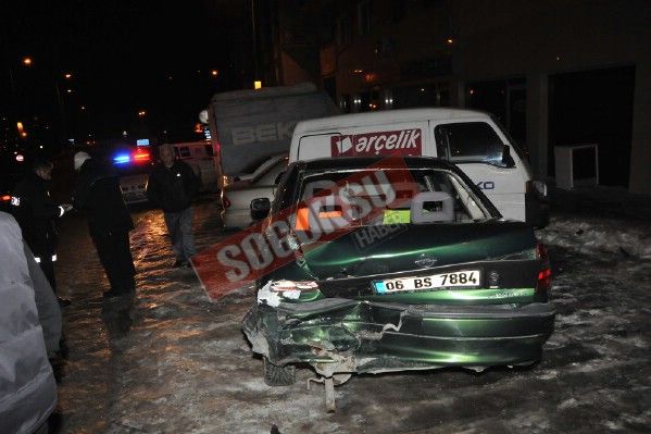
[[[48,352],[59,346],[61,311],[18,225],[4,212],[0,258],[0,433],[47,433],[57,406]]]

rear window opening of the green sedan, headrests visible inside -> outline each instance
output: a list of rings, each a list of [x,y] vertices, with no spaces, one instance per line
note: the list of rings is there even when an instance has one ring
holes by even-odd
[[[409,173],[410,179],[399,183],[388,182],[391,176],[386,181],[364,177],[360,171],[309,173],[299,189],[295,230],[314,231],[321,224],[318,219],[334,218],[346,219],[351,226],[468,223],[491,218],[481,199],[453,173],[434,169]],[[349,183],[353,177],[371,182],[365,181],[362,188],[360,183]],[[373,218],[366,219],[370,206]],[[302,210],[306,208],[311,211]]]

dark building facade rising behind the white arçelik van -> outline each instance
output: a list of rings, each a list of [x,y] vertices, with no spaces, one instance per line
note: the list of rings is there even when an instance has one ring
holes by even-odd
[[[486,110],[538,176],[553,178],[555,146],[598,144],[600,184],[651,194],[651,2],[280,0],[278,11],[281,84],[313,80],[343,112]]]

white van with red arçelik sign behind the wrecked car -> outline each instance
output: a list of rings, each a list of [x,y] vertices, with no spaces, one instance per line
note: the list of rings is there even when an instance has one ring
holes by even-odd
[[[509,134],[487,113],[404,109],[314,119],[297,124],[289,162],[330,157],[425,156],[455,163],[506,219],[549,222],[547,186]]]

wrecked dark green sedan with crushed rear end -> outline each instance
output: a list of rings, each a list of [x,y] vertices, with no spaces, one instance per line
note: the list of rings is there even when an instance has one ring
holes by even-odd
[[[268,385],[310,365],[329,410],[352,373],[530,364],[553,331],[544,247],[447,162],[297,162],[251,210],[275,262],[242,328]]]

